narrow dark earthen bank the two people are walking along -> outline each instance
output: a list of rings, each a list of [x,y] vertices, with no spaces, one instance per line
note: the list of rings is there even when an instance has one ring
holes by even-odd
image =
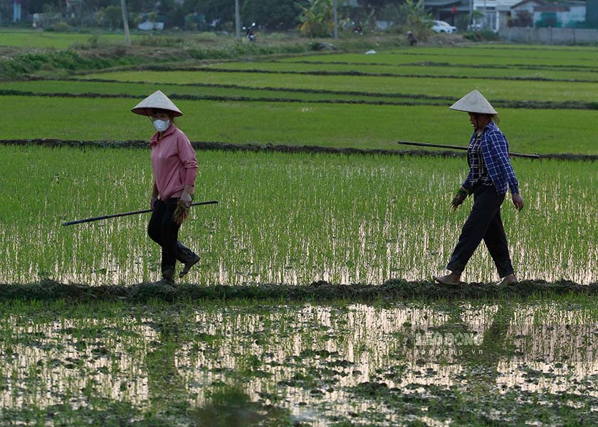
[[[45,279],[37,283],[0,284],[1,300],[127,300],[145,302],[152,299],[175,301],[191,300],[283,300],[283,301],[372,301],[372,300],[489,300],[555,297],[557,295],[598,295],[598,283],[579,285],[561,280],[523,280],[514,286],[495,283],[461,283],[455,286],[439,285],[427,280],[409,282],[391,279],[382,285],[339,285],[324,280],[310,285],[263,283],[254,285],[199,285],[187,283],[168,285],[162,282],[135,285],[90,286],[78,283],[60,283]]]

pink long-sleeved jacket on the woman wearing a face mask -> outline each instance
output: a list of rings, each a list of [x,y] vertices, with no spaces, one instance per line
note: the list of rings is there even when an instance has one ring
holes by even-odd
[[[171,125],[160,138],[156,132],[150,142],[154,188],[160,199],[180,197],[185,185],[194,186],[197,173],[195,151],[187,136]]]

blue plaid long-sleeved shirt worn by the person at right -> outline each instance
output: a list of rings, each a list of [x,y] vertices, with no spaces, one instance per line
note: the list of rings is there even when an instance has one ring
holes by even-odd
[[[480,165],[471,164],[471,157],[475,157],[475,154],[471,152],[471,146],[476,142],[476,136],[477,132],[474,131],[469,140],[470,148],[467,150],[469,174],[463,182],[463,188],[465,189],[472,189],[473,185],[478,184],[478,180],[483,177],[480,174]],[[482,131],[481,152],[485,169],[487,169],[488,175],[492,179],[496,192],[505,194],[508,186],[511,194],[519,194],[519,183],[510,164],[507,138],[492,121]]]

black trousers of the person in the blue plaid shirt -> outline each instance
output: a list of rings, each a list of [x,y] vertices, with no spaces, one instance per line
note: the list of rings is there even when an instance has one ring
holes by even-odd
[[[493,185],[478,185],[473,189],[471,214],[463,225],[449,265],[446,265],[448,270],[458,275],[463,273],[469,258],[483,240],[496,265],[498,275],[503,278],[513,274],[507,236],[503,220],[500,219],[500,205],[504,199],[505,194],[497,194]]]

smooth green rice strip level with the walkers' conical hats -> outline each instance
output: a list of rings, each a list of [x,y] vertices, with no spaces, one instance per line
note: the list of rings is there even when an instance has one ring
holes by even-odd
[[[6,96],[0,100],[11,105],[5,114],[5,139],[122,141],[149,140],[152,135],[149,120],[132,117],[130,99]],[[177,104],[185,112],[179,126],[192,141],[403,149],[398,140],[464,146],[471,135],[465,115],[429,105],[184,100]],[[503,109],[500,115],[500,127],[513,152],[597,154],[594,132],[585,125],[596,119],[597,112]],[[105,126],[107,122],[110,126]]]

